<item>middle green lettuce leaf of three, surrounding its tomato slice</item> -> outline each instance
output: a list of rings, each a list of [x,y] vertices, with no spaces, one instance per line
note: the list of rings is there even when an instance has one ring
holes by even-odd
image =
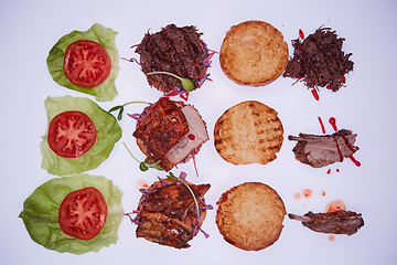
[[[97,168],[110,155],[115,144],[121,138],[121,128],[117,119],[100,108],[93,100],[85,97],[47,97],[44,103],[47,110],[47,128],[40,145],[42,152],[42,168],[51,174],[66,176],[82,173]],[[79,110],[93,120],[97,138],[94,146],[83,156],[77,158],[63,158],[51,150],[47,142],[47,131],[51,120],[60,113]]]

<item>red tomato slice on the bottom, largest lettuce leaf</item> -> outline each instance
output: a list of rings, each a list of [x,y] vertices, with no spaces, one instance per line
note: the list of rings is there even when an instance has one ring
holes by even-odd
[[[94,239],[104,227],[106,218],[105,199],[92,187],[68,193],[60,205],[61,230],[77,240]]]

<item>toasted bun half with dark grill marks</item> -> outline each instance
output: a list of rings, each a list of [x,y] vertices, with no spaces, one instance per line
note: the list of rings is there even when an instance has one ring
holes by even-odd
[[[256,100],[230,107],[215,124],[216,151],[234,165],[266,165],[275,160],[283,141],[277,115],[275,109]]]

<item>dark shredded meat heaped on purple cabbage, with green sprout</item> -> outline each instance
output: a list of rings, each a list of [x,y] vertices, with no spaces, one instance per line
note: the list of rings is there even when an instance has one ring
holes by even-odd
[[[190,78],[194,87],[201,86],[210,66],[210,56],[205,43],[200,39],[193,25],[179,28],[169,24],[154,34],[146,33],[136,53],[140,55],[140,64],[144,74],[165,71],[181,77]],[[148,75],[148,82],[164,93],[173,93],[181,88],[181,82],[170,75]]]

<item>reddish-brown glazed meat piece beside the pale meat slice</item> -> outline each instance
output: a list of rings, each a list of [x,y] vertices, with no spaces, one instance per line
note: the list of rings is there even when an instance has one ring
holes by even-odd
[[[189,125],[182,110],[174,102],[161,97],[144,118],[137,124],[132,136],[150,162],[161,159],[189,131]]]

